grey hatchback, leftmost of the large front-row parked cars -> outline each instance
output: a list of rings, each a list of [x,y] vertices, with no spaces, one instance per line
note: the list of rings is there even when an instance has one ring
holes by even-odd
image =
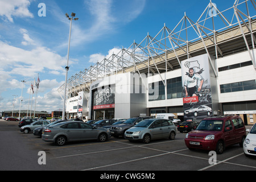
[[[42,140],[53,142],[58,146],[77,140],[98,139],[105,142],[111,137],[110,131],[102,127],[95,127],[80,121],[61,122],[43,129]]]

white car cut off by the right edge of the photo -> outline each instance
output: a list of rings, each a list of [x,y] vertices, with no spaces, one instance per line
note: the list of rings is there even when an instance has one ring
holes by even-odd
[[[243,152],[245,156],[256,156],[256,124],[253,125],[251,130],[247,129],[249,132],[243,142]]]

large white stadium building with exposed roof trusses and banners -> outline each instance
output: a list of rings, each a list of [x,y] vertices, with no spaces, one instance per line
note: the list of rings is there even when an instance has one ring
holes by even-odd
[[[256,3],[227,10],[210,2],[199,19],[170,29],[84,69],[58,91],[66,115],[83,119],[174,113],[181,120],[241,115],[256,122]]]

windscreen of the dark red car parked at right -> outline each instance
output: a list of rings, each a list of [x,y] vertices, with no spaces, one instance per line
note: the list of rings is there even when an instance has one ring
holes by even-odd
[[[223,126],[222,120],[202,120],[196,130],[221,131]]]

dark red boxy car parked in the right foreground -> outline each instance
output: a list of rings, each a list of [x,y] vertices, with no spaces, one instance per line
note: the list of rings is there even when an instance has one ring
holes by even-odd
[[[200,148],[222,154],[227,146],[239,143],[242,147],[245,138],[245,125],[240,116],[209,117],[186,135],[185,144],[189,149]]]

